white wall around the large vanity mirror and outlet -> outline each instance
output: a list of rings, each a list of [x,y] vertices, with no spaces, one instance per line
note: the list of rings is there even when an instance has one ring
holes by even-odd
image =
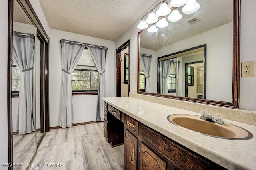
[[[241,62],[255,61],[256,56],[256,33],[255,33],[255,1],[242,0],[241,2]],[[151,9],[151,8],[150,8]],[[149,9],[149,10],[150,10]],[[131,77],[130,92],[137,92],[137,34],[140,31],[136,26],[138,19],[134,24],[116,40],[116,48],[130,39],[131,51]],[[199,44],[202,45],[202,44]],[[232,44],[230,44],[232,45]],[[178,48],[177,48],[178,49]],[[176,50],[179,51],[179,50]],[[161,55],[162,56],[162,55]],[[232,68],[231,68],[232,69]],[[255,77],[241,78],[240,82],[240,109],[256,111],[256,83]]]

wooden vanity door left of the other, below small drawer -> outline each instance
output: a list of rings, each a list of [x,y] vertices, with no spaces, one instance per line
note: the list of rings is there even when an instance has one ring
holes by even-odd
[[[137,168],[137,152],[138,139],[128,130],[125,131],[124,137],[124,169],[136,170]]]

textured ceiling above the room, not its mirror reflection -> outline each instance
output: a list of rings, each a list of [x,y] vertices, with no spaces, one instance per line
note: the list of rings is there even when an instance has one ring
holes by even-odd
[[[155,0],[40,0],[50,28],[116,40]]]

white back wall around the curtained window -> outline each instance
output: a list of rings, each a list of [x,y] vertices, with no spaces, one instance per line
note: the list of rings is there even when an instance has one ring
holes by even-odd
[[[106,89],[107,97],[114,97],[115,64],[114,42],[71,32],[50,29],[50,61],[49,61],[49,112],[50,127],[60,125],[62,105],[62,59],[60,40],[74,40],[83,43],[108,47],[106,57]],[[73,96],[75,123],[96,120],[97,95]]]

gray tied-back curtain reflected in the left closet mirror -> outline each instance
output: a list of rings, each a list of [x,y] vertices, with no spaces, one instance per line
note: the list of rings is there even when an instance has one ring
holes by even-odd
[[[21,71],[18,116],[16,119],[19,134],[31,133],[35,130],[32,107],[34,41],[34,34],[13,32],[13,61]]]

